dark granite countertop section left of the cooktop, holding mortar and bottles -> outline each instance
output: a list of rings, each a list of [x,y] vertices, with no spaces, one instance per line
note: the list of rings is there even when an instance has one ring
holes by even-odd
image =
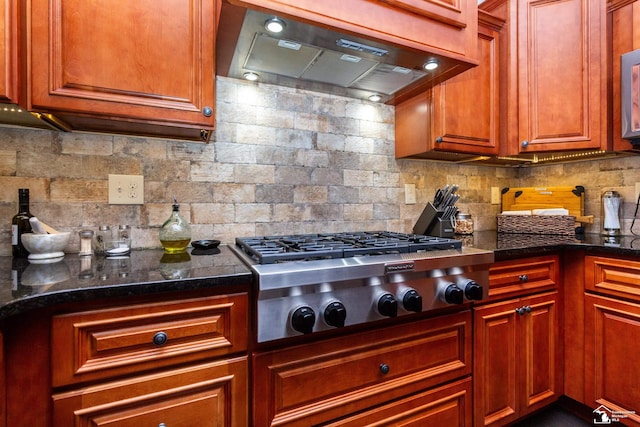
[[[120,259],[67,254],[53,264],[0,257],[0,319],[70,302],[247,286],[250,281],[250,270],[227,246],[179,255],[134,250]]]

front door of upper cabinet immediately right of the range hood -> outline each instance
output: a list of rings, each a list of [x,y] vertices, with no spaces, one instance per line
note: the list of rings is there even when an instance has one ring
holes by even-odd
[[[480,64],[433,88],[436,150],[498,154],[499,30],[503,21],[479,13]]]

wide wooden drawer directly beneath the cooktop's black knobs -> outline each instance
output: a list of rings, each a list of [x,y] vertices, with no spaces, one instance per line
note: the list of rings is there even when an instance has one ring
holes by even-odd
[[[471,373],[471,314],[254,355],[254,426],[334,420]]]

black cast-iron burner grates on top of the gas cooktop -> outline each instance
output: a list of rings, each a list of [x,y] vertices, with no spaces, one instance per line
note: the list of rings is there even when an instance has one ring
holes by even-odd
[[[459,240],[389,231],[236,238],[259,264],[460,249]]]

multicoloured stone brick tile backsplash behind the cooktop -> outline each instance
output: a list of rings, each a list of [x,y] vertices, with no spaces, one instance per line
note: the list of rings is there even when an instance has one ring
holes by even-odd
[[[387,229],[411,232],[436,188],[460,186],[458,206],[477,230],[495,229],[490,187],[584,185],[599,224],[600,193],[625,200],[625,230],[640,182],[636,157],[532,168],[394,158],[394,108],[350,98],[217,79],[209,144],[157,138],[0,128],[0,255],[11,253],[18,188],[31,212],[77,231],[129,224],[133,246],[160,247],[175,194],[193,239]],[[144,175],[144,205],[109,205],[109,174]],[[417,203],[404,203],[404,184]]]

